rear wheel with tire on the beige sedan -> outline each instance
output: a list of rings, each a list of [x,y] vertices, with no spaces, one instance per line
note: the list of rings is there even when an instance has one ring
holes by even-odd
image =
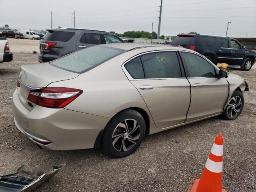
[[[101,149],[110,157],[121,158],[136,151],[145,136],[145,121],[135,110],[124,110],[106,125]]]

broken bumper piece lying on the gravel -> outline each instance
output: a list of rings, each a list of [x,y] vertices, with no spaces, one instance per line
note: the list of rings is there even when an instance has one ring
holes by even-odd
[[[53,170],[45,173],[42,169],[31,170],[22,165],[16,173],[0,176],[0,192],[30,192],[52,178],[66,164],[52,166]]]

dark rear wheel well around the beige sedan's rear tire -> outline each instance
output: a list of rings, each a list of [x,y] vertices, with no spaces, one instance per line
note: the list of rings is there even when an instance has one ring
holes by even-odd
[[[141,116],[144,118],[145,125],[146,125],[146,132],[145,132],[145,134],[149,134],[150,120],[149,120],[149,117],[148,117],[148,113],[147,113],[145,110],[143,110],[142,108],[138,108],[138,107],[126,108],[126,109],[124,109],[124,110],[128,110],[128,109],[133,109],[133,110],[135,110],[136,112],[138,112],[139,114],[141,114]],[[124,110],[122,110],[122,111],[124,111]],[[120,112],[122,112],[122,111],[120,111]],[[116,115],[119,114],[120,112],[116,113],[114,116],[116,116]],[[113,116],[113,117],[114,117],[114,116]],[[113,118],[113,117],[112,117],[112,118]],[[111,118],[111,119],[112,119],[112,118]],[[107,124],[108,124],[108,123],[107,123]],[[107,126],[107,124],[106,124],[106,126]],[[100,131],[100,133],[98,134],[98,136],[97,136],[97,138],[96,138],[96,140],[95,140],[95,142],[94,142],[94,148],[95,148],[95,149],[98,149],[98,148],[100,148],[100,146],[101,146],[102,136],[103,136],[103,134],[104,134],[104,131],[105,131],[106,126],[104,127],[104,129],[102,129],[102,130]]]

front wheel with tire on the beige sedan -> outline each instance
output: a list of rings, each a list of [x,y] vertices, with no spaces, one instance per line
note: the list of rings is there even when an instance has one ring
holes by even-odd
[[[221,114],[221,117],[224,120],[234,120],[241,114],[243,107],[244,96],[242,92],[236,90],[228,101],[228,105],[224,112]]]

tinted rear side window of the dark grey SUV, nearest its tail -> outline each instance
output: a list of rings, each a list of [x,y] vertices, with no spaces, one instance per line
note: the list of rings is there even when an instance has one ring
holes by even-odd
[[[42,39],[49,41],[66,42],[69,41],[72,38],[72,36],[74,36],[74,34],[74,32],[48,30]]]

